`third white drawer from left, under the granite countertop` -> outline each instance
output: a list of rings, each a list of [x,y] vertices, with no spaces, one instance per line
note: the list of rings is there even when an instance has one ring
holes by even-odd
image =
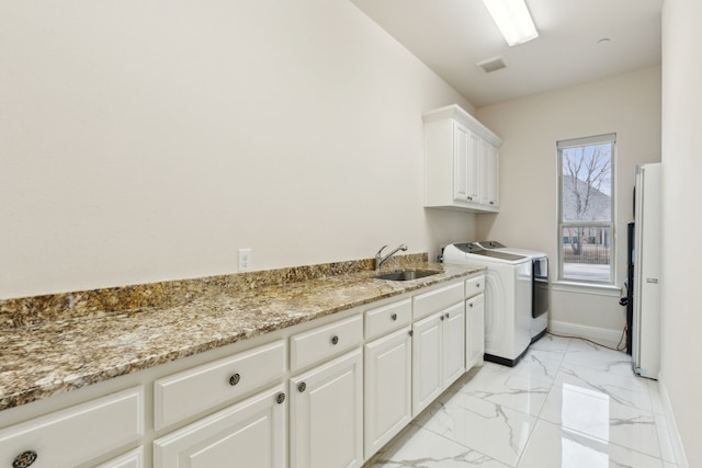
[[[319,327],[290,339],[291,370],[328,359],[363,343],[363,316]]]

